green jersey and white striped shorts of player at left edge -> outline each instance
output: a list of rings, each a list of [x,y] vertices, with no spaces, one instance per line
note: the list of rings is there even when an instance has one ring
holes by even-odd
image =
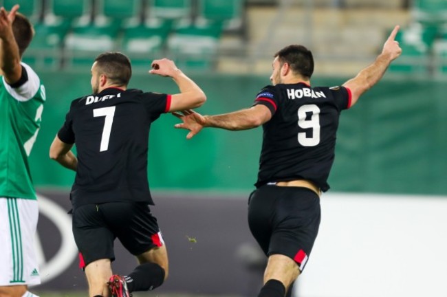
[[[34,253],[39,209],[28,156],[41,126],[45,88],[21,63],[14,85],[0,81],[0,285],[40,283]]]

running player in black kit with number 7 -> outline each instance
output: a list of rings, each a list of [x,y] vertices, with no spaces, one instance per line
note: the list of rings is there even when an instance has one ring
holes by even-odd
[[[162,113],[199,107],[206,96],[173,61],[155,60],[152,66],[149,73],[173,78],[180,93],[127,89],[129,58],[100,54],[91,67],[93,94],[72,101],[50,147],[52,159],[76,171],[70,193],[73,234],[90,297],[129,297],[160,286],[168,276],[166,245],[149,208],[149,130]],[[140,263],[127,276],[111,270],[116,238]]]

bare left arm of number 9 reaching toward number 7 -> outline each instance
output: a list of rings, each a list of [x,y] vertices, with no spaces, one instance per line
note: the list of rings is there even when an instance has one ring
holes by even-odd
[[[233,111],[221,115],[201,115],[195,111],[188,110],[180,113],[173,113],[182,124],[176,124],[175,128],[187,129],[190,132],[186,138],[190,139],[204,127],[215,127],[231,131],[247,130],[261,126],[272,118],[272,113],[265,105],[258,104],[249,109]]]

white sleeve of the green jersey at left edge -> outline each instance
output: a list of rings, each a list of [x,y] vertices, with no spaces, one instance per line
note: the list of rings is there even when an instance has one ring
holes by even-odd
[[[39,91],[41,80],[30,66],[25,63],[21,63],[21,66],[22,76],[17,83],[8,85],[4,76],[2,79],[6,91],[8,91],[14,99],[24,102],[36,95],[37,91]]]

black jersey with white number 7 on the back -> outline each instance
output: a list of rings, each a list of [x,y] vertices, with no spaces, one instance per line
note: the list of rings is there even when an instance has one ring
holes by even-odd
[[[112,201],[153,204],[147,179],[149,130],[170,104],[171,95],[118,88],[72,102],[58,137],[76,143],[74,207]]]

